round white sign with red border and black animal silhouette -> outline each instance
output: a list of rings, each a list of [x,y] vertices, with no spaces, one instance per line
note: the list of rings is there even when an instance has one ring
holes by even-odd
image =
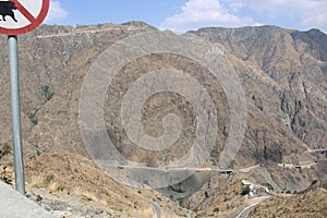
[[[49,0],[1,0],[0,34],[26,34],[41,24],[49,11]]]

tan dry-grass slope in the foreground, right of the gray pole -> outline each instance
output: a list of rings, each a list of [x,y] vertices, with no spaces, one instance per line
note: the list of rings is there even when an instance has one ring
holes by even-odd
[[[144,216],[149,196],[156,196],[150,190],[136,191],[113,181],[88,159],[69,153],[44,154],[26,162],[26,181],[31,186],[44,187],[47,191],[71,197],[84,205],[90,205],[131,217]],[[60,192],[64,187],[64,192]],[[74,193],[74,194],[73,194]],[[170,204],[162,198],[161,204]],[[116,208],[114,209],[112,209]],[[167,206],[162,206],[166,208]],[[122,209],[122,213],[120,210]],[[137,215],[137,216],[136,216]],[[148,216],[152,217],[152,216]]]

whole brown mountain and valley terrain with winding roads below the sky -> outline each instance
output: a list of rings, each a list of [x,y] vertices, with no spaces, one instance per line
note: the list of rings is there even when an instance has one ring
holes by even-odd
[[[142,22],[41,25],[19,38],[28,197],[66,218],[326,217],[327,36],[277,26],[160,33]],[[4,51],[0,65],[0,178],[14,186]],[[228,87],[231,78],[240,86]],[[93,101],[81,105],[85,90]],[[131,132],[129,104],[149,94],[131,125],[142,131]],[[170,146],[142,145],[158,138]]]

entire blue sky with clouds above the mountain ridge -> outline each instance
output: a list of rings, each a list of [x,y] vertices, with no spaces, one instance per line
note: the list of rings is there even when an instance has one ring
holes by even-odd
[[[206,26],[277,25],[327,33],[327,0],[51,0],[48,24],[143,21],[185,32]]]

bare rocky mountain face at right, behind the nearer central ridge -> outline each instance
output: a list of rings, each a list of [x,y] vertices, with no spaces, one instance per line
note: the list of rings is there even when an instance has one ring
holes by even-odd
[[[249,101],[267,117],[280,119],[284,128],[311,148],[326,145],[327,36],[324,33],[263,26],[204,28],[196,34],[222,45],[227,53],[242,63],[234,65],[244,77]],[[259,74],[261,82],[253,84],[253,74]]]

